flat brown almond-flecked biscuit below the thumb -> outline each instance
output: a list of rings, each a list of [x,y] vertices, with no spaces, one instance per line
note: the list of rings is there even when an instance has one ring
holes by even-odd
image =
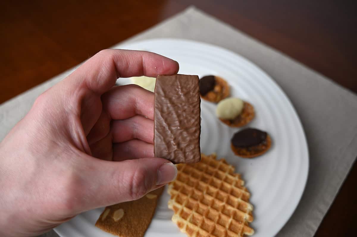
[[[120,237],[143,237],[164,187],[130,202],[107,206],[95,226]]]

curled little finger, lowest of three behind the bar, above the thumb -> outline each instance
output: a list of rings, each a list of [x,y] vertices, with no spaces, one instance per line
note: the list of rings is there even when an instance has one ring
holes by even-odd
[[[154,145],[141,140],[130,140],[113,144],[113,160],[122,161],[154,157]]]

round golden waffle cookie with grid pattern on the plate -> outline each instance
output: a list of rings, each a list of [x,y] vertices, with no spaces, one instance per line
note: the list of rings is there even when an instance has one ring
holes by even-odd
[[[195,237],[252,235],[250,193],[240,175],[216,154],[201,155],[196,164],[177,165],[176,180],[169,184],[172,221],[181,232]]]

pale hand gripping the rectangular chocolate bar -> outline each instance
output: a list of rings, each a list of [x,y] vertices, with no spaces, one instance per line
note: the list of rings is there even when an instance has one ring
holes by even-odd
[[[117,78],[175,74],[155,53],[103,50],[35,101],[0,143],[0,236],[35,236],[175,179],[154,158],[154,93]]]

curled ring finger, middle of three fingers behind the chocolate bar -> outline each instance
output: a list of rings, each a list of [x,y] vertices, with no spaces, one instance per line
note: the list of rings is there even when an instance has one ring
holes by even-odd
[[[111,131],[113,143],[122,143],[132,139],[153,143],[154,121],[140,115],[128,119],[114,120]]]

